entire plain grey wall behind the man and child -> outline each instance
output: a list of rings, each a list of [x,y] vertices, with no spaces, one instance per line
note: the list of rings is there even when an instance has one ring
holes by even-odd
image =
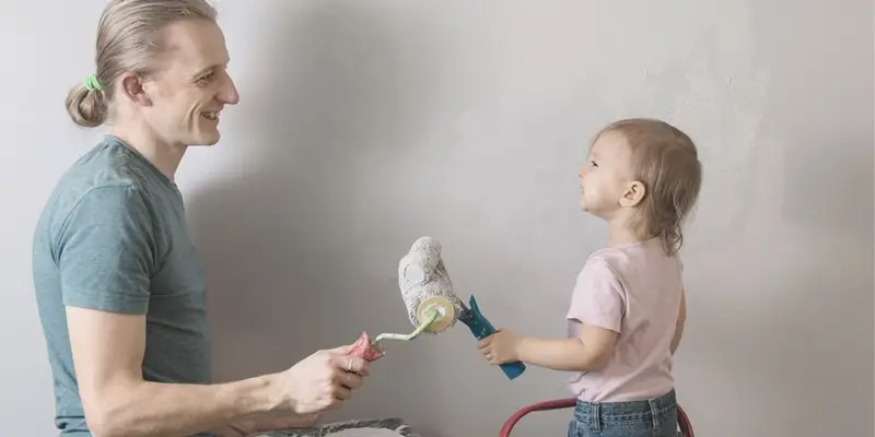
[[[3,435],[52,434],[30,233],[102,133],[71,127],[61,102],[92,72],[103,4],[0,7]],[[687,130],[705,168],[676,364],[697,430],[875,434],[871,1],[219,7],[242,102],[179,182],[222,379],[410,329],[396,267],[422,235],[443,241],[457,292],[495,324],[562,335],[575,274],[605,238],[578,209],[586,141],[653,116]],[[330,418],[489,436],[516,409],[568,395],[565,375],[538,368],[509,382],[462,327],[387,347]],[[533,415],[516,434],[562,435],[568,418]]]

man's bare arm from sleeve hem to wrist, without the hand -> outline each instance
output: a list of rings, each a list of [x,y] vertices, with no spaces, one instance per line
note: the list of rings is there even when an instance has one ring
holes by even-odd
[[[95,436],[187,436],[280,408],[275,376],[222,385],[142,378],[145,317],[67,308],[73,363]]]

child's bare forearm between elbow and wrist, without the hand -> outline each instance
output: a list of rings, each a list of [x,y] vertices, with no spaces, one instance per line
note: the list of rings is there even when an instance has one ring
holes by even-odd
[[[535,366],[560,371],[592,371],[599,363],[580,339],[537,339],[524,336],[520,340],[520,361]]]

